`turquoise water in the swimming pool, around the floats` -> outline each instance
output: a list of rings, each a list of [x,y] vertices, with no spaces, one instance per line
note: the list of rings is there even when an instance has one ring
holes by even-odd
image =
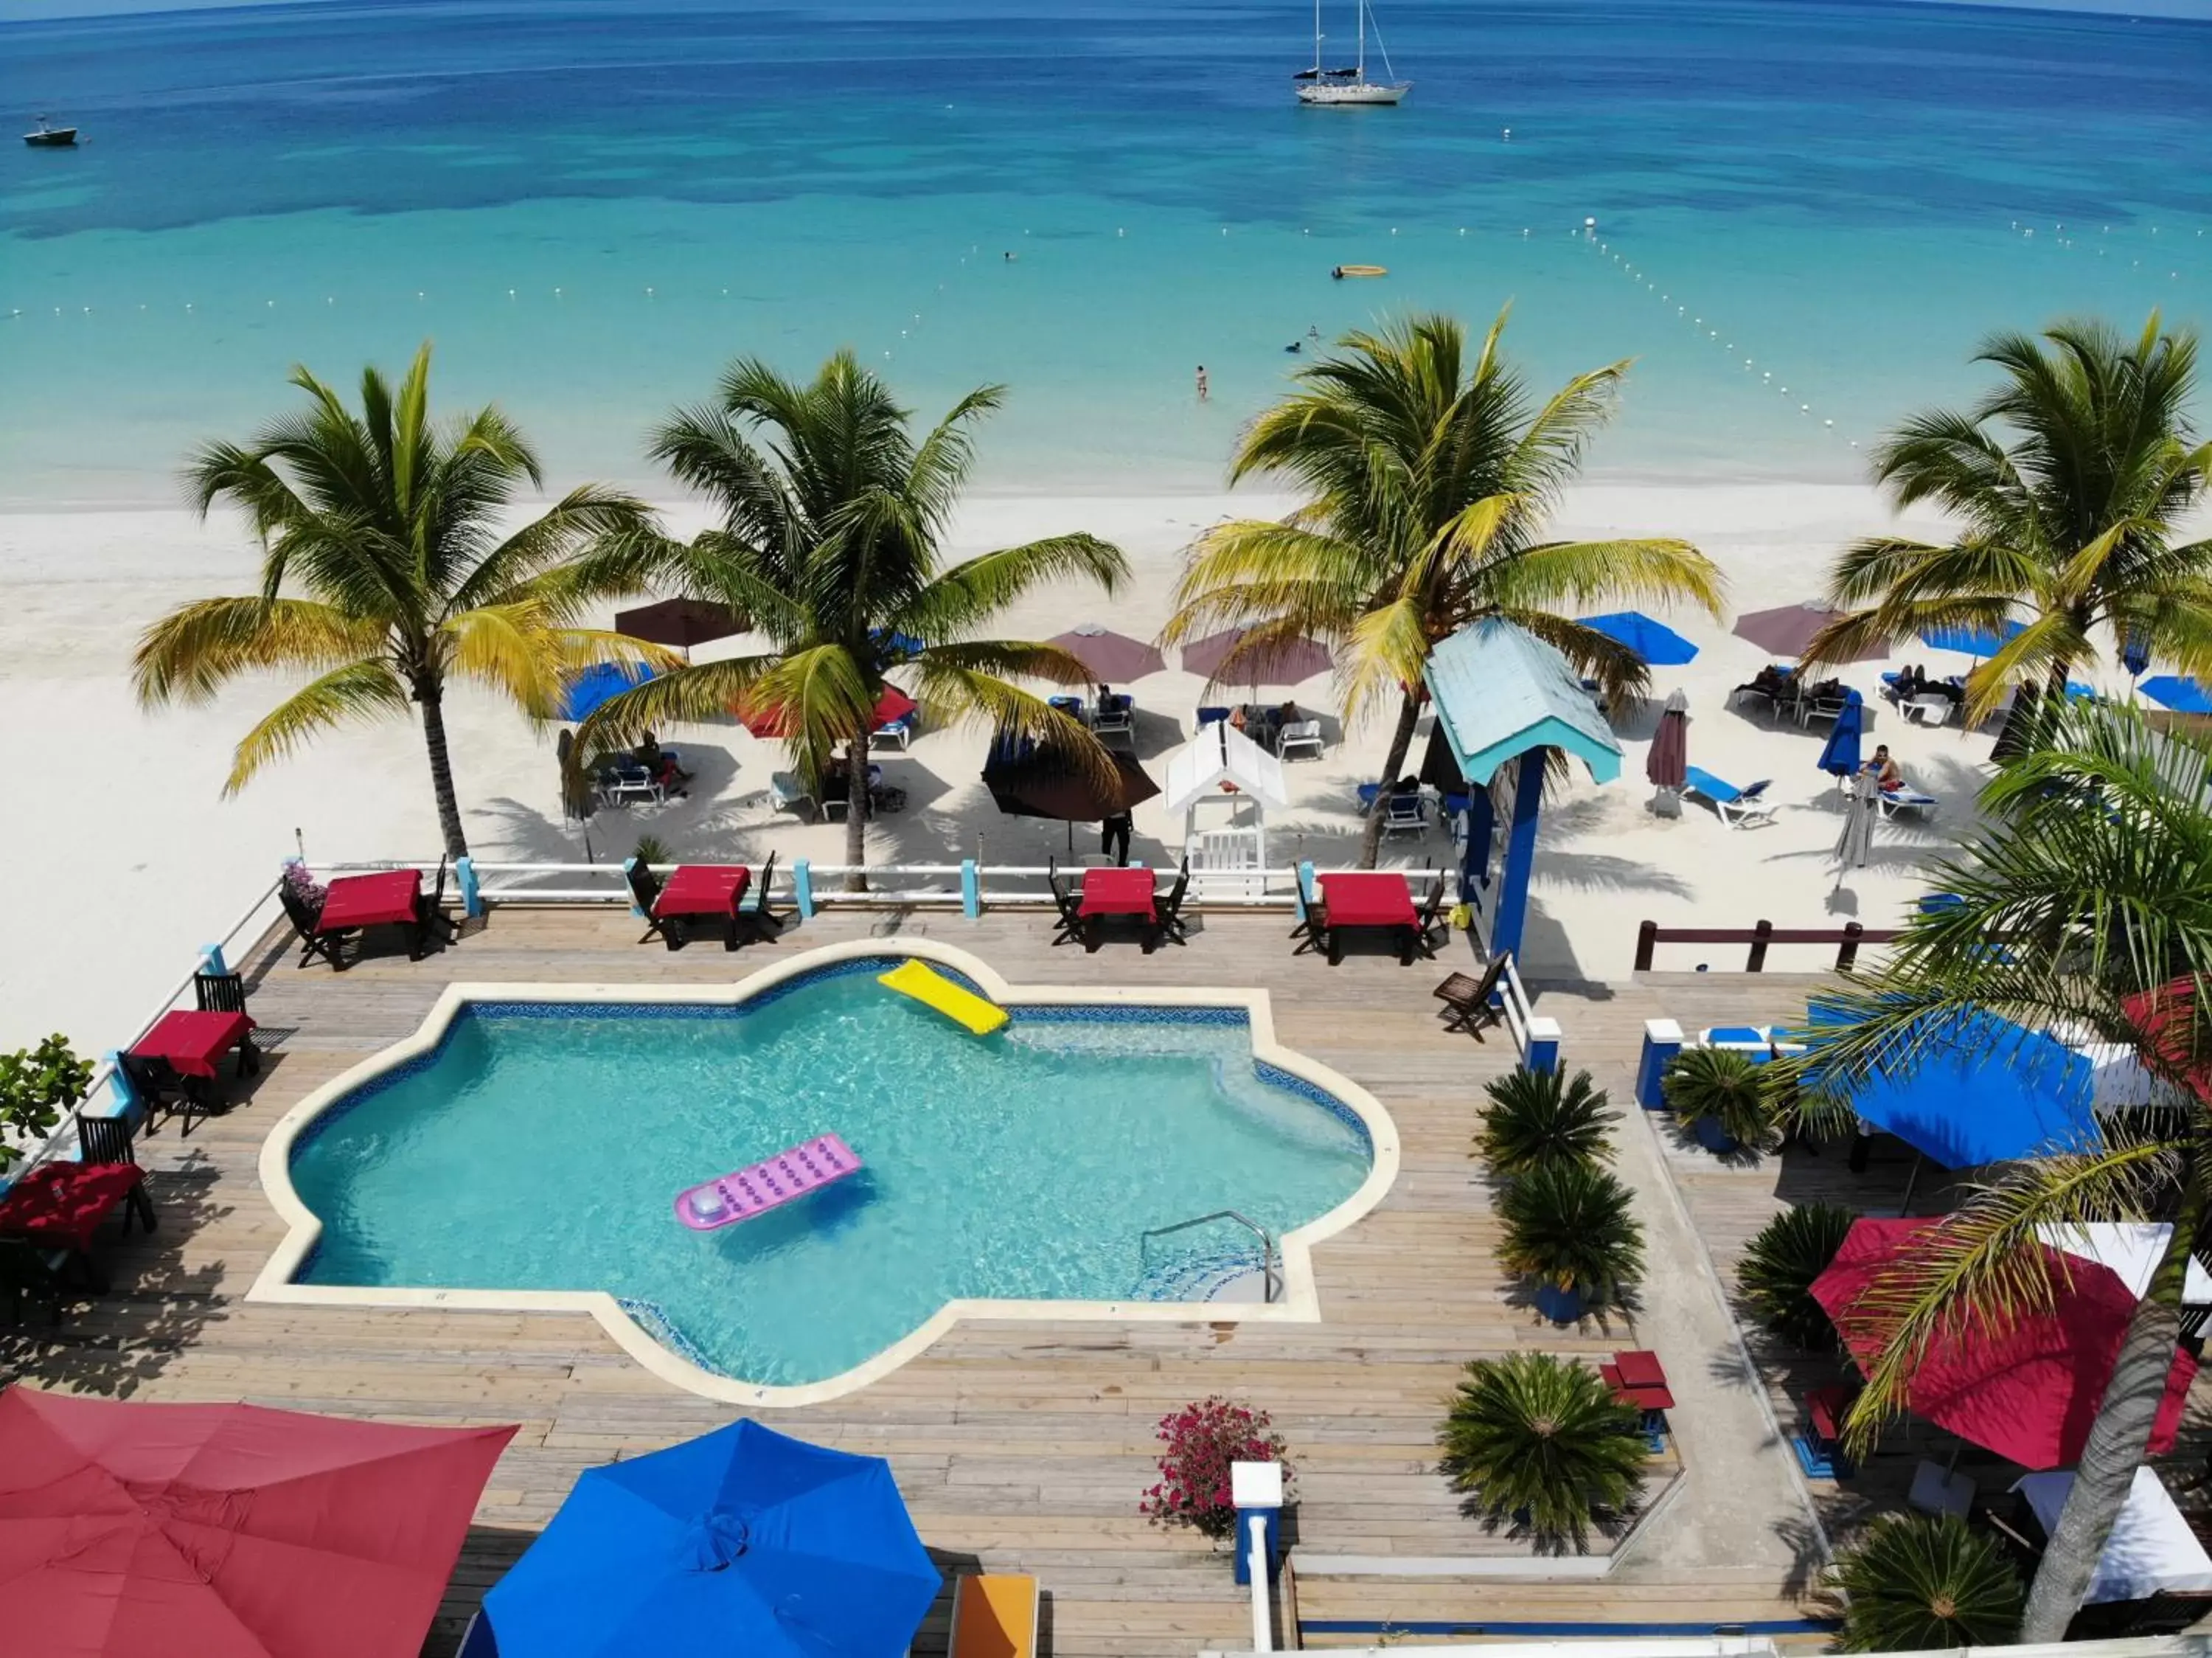
[[[307,1284],[611,1291],[728,1377],[834,1377],[945,1302],[1190,1299],[1367,1178],[1241,1012],[1022,1009],[975,1038],[867,963],[752,1007],[480,1003],[294,1144]],[[1130,1018],[1128,1014],[1135,1014]],[[675,1193],[836,1131],[867,1169],[717,1233]]]

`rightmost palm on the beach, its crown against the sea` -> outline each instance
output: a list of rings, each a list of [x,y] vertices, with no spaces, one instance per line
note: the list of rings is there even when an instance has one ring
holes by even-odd
[[[1955,538],[1849,547],[1829,576],[1829,602],[1849,613],[1805,662],[2024,620],[1969,677],[1969,715],[2022,680],[2064,697],[2066,675],[2097,662],[2099,631],[2185,673],[2212,669],[2212,540],[2174,540],[2212,487],[2212,447],[2190,425],[2197,336],[2161,332],[2157,312],[2135,341],[2066,321],[1995,334],[1973,361],[2000,370],[1995,390],[1964,412],[1916,414],[1874,452],[1891,502],[1942,507]]]

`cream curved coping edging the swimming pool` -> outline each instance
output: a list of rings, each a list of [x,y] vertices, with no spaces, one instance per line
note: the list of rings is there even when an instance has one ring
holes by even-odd
[[[307,1262],[323,1235],[316,1217],[292,1186],[292,1147],[299,1136],[343,1100],[354,1089],[374,1082],[378,1076],[398,1069],[416,1058],[427,1058],[438,1049],[453,1020],[480,1001],[533,1001],[533,1003],[630,1003],[630,1005],[692,1005],[692,1007],[741,1007],[763,992],[776,989],[792,978],[834,967],[845,961],[911,956],[931,961],[967,974],[1002,1007],[1230,1007],[1248,1018],[1252,1058],[1274,1065],[1340,1100],[1365,1127],[1369,1144],[1367,1178],[1327,1213],[1296,1226],[1276,1240],[1283,1262],[1281,1302],[1033,1302],[1033,1299],[980,1299],[960,1297],[945,1302],[936,1313],[916,1324],[907,1335],[869,1355],[849,1370],[821,1381],[790,1386],[739,1381],[717,1375],[684,1355],[664,1346],[644,1324],[608,1291],[469,1291],[469,1288],[398,1288],[398,1286],[352,1286],[352,1284],[296,1284],[294,1273]],[[1363,1220],[1383,1195],[1398,1182],[1398,1125],[1383,1102],[1365,1087],[1340,1071],[1321,1065],[1296,1049],[1283,1047],[1274,1034],[1274,1007],[1265,989],[1217,989],[1217,987],[1159,987],[1130,989],[1093,985],[1082,992],[1044,985],[1011,985],[989,963],[936,939],[852,939],[836,945],[799,952],[732,983],[701,985],[542,985],[542,983],[476,983],[453,981],[425,1014],[422,1023],[407,1036],[365,1060],[349,1065],[338,1076],[312,1089],[290,1111],[285,1111],[268,1138],[261,1142],[259,1175],[261,1189],[283,1220],[285,1235],[254,1275],[248,1302],[279,1306],[376,1306],[376,1308],[442,1308],[467,1313],[591,1313],[599,1328],[628,1353],[637,1364],[670,1386],[686,1392],[717,1399],[721,1403],[796,1408],[843,1399],[860,1388],[880,1381],[911,1359],[920,1357],[942,1335],[964,1319],[1088,1319],[1113,1324],[1318,1324],[1321,1288],[1314,1282],[1314,1244],[1327,1242],[1354,1222]]]

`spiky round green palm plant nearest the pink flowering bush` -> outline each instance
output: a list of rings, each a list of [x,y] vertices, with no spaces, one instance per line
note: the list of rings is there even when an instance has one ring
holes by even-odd
[[[1524,1525],[1551,1547],[1588,1547],[1590,1525],[1626,1514],[1644,1479],[1635,1406],[1548,1353],[1469,1364],[1436,1439],[1471,1514]]]

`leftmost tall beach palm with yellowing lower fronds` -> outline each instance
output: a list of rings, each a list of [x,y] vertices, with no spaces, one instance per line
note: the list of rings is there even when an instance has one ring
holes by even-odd
[[[223,792],[272,759],[352,719],[420,711],[438,828],[467,857],[445,737],[456,677],[555,713],[562,684],[591,662],[672,662],[659,646],[575,626],[591,600],[622,591],[628,549],[650,538],[630,496],[580,485],[509,529],[538,456],[495,407],[429,418],[429,345],[392,387],[361,374],[361,412],[305,367],[310,405],[252,441],[210,443],[186,472],[192,507],[246,509],[263,547],[261,591],[181,604],[139,635],[142,706],[208,702],[241,673],[312,669],[239,742]],[[296,589],[296,591],[294,591]]]

